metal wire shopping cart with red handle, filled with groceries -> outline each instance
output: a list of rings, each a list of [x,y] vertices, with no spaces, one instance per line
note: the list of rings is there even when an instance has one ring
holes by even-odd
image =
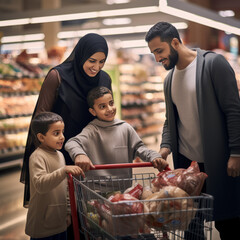
[[[152,163],[95,165],[98,169],[149,167]],[[152,187],[154,173],[77,179],[69,174],[74,240],[212,239],[213,197],[161,198],[111,202],[129,186]],[[112,195],[113,196],[113,195]],[[80,225],[79,225],[80,221]],[[81,226],[79,228],[79,226]]]

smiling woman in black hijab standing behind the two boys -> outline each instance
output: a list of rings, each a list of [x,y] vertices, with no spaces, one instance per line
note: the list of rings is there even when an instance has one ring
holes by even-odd
[[[65,142],[77,135],[93,120],[88,111],[87,93],[97,86],[111,89],[111,78],[101,70],[108,55],[106,40],[98,34],[82,37],[70,56],[60,65],[52,68],[41,88],[33,117],[44,111],[62,116],[65,123]],[[29,157],[36,149],[31,129],[28,133],[20,181],[25,184],[24,206],[30,198]],[[62,148],[66,164],[73,164]]]

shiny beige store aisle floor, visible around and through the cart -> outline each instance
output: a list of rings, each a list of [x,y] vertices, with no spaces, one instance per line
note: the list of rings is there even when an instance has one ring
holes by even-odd
[[[157,173],[154,168],[136,168],[134,172]],[[24,186],[19,176],[19,167],[0,171],[0,240],[29,240],[24,233],[27,210],[22,207]],[[215,229],[212,240],[220,240]]]

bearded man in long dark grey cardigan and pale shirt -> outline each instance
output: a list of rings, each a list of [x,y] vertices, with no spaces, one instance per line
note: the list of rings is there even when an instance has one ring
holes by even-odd
[[[164,82],[166,120],[160,153],[172,152],[175,168],[199,162],[214,196],[214,220],[221,239],[235,239],[240,227],[240,99],[226,59],[189,49],[177,29],[155,24],[145,40],[157,62],[171,70]]]

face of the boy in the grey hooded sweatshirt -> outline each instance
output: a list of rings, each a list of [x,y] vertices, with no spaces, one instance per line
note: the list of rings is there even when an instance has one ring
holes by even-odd
[[[89,111],[93,116],[97,116],[99,120],[113,121],[116,115],[116,106],[114,105],[112,95],[107,93],[96,99],[93,108],[89,108]]]

